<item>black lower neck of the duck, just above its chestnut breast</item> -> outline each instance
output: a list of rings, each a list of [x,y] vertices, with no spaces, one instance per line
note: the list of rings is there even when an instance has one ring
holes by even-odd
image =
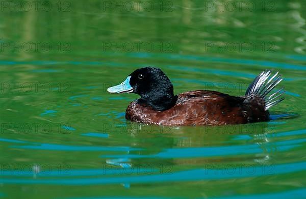
[[[164,111],[173,107],[177,101],[177,96],[174,94],[155,95],[154,97],[141,98],[145,100],[154,110]]]

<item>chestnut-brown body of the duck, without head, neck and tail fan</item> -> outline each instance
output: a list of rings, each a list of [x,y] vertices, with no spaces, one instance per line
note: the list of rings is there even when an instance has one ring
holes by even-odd
[[[269,120],[265,102],[257,96],[235,97],[197,90],[177,95],[173,107],[157,111],[138,99],[127,107],[125,118],[132,122],[167,126],[245,124]]]

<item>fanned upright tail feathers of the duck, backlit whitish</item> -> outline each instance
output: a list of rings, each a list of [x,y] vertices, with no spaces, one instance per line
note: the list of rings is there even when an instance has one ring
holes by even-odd
[[[283,101],[282,95],[285,93],[284,87],[276,92],[271,92],[279,82],[283,80],[282,75],[276,72],[271,76],[270,70],[265,70],[259,74],[245,92],[245,96],[256,95],[265,101],[265,110]]]

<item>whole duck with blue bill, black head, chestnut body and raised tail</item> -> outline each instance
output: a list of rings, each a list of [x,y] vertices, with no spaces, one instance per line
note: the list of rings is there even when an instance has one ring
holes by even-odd
[[[135,70],[107,91],[140,96],[126,108],[125,118],[131,122],[164,126],[234,125],[269,121],[269,109],[285,99],[284,87],[272,91],[282,80],[278,72],[264,70],[243,96],[210,90],[174,95],[167,75],[160,68],[148,66]]]

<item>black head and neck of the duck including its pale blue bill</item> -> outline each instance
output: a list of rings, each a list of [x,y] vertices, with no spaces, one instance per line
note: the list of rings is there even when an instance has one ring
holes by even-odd
[[[129,86],[126,85],[128,83]],[[140,100],[144,100],[155,110],[167,110],[175,104],[177,99],[177,96],[173,94],[173,86],[169,78],[161,69],[155,67],[135,70],[120,85],[125,87],[124,91],[140,95]],[[122,93],[122,91],[111,93]]]

